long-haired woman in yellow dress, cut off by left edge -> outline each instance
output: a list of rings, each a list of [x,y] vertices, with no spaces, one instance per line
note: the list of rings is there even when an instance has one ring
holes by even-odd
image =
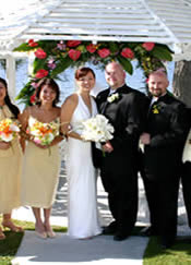
[[[0,120],[5,118],[20,119],[20,110],[14,106],[8,94],[8,84],[0,77]],[[21,205],[20,203],[20,176],[21,176],[22,149],[19,138],[11,143],[0,141],[0,213],[3,214],[2,226],[12,231],[23,231],[11,220],[11,212]],[[0,240],[5,234],[0,227]]]

